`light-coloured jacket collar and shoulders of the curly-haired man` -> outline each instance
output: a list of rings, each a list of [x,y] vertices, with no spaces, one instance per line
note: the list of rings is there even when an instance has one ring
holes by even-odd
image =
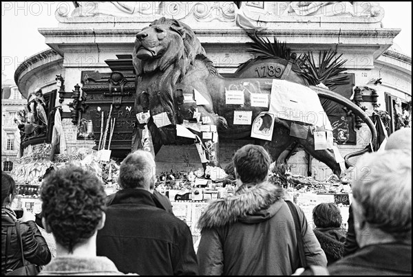
[[[59,256],[39,275],[125,275],[106,257]],[[131,274],[132,275],[132,274]],[[137,275],[137,274],[135,274]]]

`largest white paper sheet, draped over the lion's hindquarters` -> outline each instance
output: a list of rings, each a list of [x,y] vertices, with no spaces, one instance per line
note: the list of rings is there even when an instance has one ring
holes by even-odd
[[[327,130],[332,130],[317,93],[295,82],[273,79],[269,112],[277,118],[325,126]]]

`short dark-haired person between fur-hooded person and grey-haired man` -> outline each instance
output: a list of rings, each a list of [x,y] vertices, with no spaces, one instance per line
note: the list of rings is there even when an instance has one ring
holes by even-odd
[[[341,212],[335,203],[320,203],[313,209],[314,234],[331,265],[343,256],[346,230],[341,228]]]

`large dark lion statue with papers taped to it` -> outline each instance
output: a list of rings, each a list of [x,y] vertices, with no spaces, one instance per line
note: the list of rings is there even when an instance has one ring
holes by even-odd
[[[234,75],[238,78],[224,78],[218,74],[213,63],[207,56],[198,38],[188,25],[174,19],[164,17],[153,21],[148,27],[143,28],[136,35],[134,52],[132,54],[134,69],[136,71],[136,113],[151,114],[147,122],[139,122],[134,130],[132,150],[142,148],[142,130],[147,124],[151,133],[154,152],[157,153],[162,145],[166,144],[193,144],[193,139],[177,136],[176,124],[186,122],[196,123],[202,120],[203,124],[217,126],[220,139],[236,140],[251,139],[251,124],[233,124],[234,110],[252,111],[252,118],[268,108],[251,107],[250,92],[271,93],[271,78],[252,78],[247,69],[237,71]],[[277,61],[276,61],[277,62]],[[288,63],[288,61],[286,61]],[[293,71],[289,73],[290,80],[301,82],[301,77]],[[295,75],[294,75],[295,74]],[[319,97],[326,98],[343,104],[359,115],[372,131],[373,144],[375,143],[375,129],[368,115],[350,100],[337,93],[311,87]],[[244,105],[226,104],[225,91],[231,89],[244,90]],[[197,104],[196,94],[202,96],[202,104]],[[162,120],[153,118],[162,115]],[[161,122],[160,122],[161,121]],[[333,172],[340,176],[341,168],[337,164],[335,155],[329,150],[315,150],[313,133],[308,131],[308,137],[302,139],[290,136],[289,120],[274,118],[272,140],[255,139],[255,144],[260,144],[276,161],[279,155],[291,144],[301,144],[306,151],[319,161],[324,162]],[[196,124],[195,124],[196,125]],[[201,133],[192,129],[198,138]],[[215,138],[211,151],[211,138],[200,138],[195,142],[206,146],[207,164],[219,166],[218,138]],[[209,157],[208,157],[209,156]]]

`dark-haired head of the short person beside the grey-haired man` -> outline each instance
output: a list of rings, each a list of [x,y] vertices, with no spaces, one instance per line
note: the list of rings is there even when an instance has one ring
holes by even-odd
[[[317,228],[339,228],[343,219],[335,203],[320,203],[313,209],[313,221]]]

